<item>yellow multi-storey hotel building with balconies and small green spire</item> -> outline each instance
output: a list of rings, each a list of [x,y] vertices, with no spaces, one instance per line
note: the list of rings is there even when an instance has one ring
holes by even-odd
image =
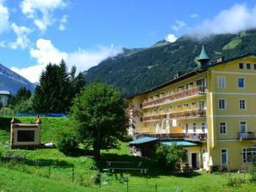
[[[185,143],[194,168],[240,169],[256,155],[256,56],[209,63],[202,46],[199,62],[199,69],[130,98],[128,132]]]

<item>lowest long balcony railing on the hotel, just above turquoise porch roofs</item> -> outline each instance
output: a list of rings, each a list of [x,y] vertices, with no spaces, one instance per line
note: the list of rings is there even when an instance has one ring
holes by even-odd
[[[135,135],[134,139],[143,137],[154,137],[158,139],[172,139],[172,140],[189,140],[189,141],[206,141],[207,133],[139,133]]]

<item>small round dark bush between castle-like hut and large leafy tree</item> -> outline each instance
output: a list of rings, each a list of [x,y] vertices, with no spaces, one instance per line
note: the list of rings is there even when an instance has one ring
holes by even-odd
[[[57,149],[65,155],[74,155],[78,151],[78,135],[74,130],[68,129],[59,132],[57,139]]]

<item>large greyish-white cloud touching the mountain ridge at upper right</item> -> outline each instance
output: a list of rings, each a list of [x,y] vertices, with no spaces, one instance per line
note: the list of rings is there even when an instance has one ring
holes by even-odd
[[[256,28],[256,7],[235,4],[230,9],[219,12],[213,19],[204,20],[192,29],[192,34],[209,36],[212,34],[238,33]]]

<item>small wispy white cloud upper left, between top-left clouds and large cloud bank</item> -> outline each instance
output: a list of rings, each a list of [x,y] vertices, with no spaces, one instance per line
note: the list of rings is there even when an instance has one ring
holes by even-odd
[[[9,46],[16,50],[21,48],[22,50],[29,46],[30,40],[28,34],[31,33],[31,30],[26,26],[17,26],[16,23],[12,23],[12,30],[16,33],[16,41],[9,44]]]

